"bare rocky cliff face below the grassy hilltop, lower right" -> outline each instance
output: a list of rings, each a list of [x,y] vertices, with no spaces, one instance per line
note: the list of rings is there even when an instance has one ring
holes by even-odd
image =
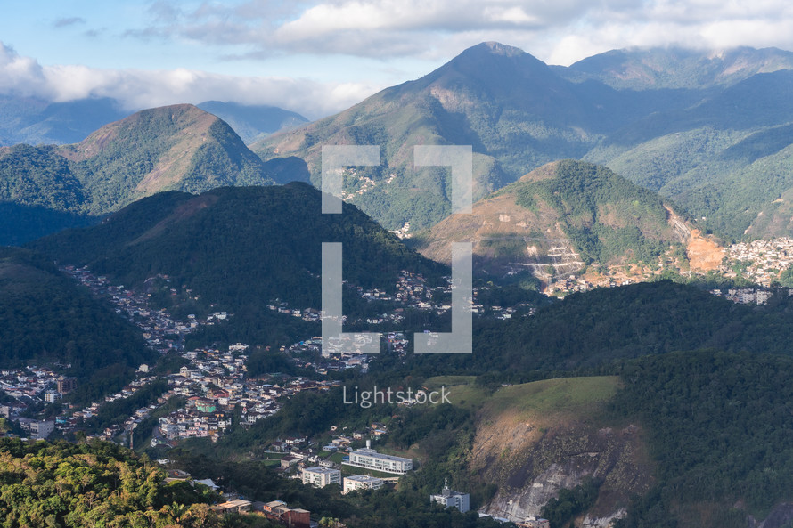
[[[625,516],[631,497],[647,491],[652,483],[640,433],[636,426],[597,428],[576,423],[488,426],[478,434],[472,464],[486,482],[499,486],[484,511],[511,521],[540,515],[560,489],[575,488],[592,477],[601,487],[583,523],[592,528],[609,526]],[[495,443],[503,446],[500,452],[492,451]]]

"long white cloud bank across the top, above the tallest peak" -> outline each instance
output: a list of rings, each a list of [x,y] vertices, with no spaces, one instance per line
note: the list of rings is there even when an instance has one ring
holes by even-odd
[[[445,56],[498,40],[569,63],[634,45],[793,48],[786,0],[245,0],[177,10],[154,4],[142,35],[272,53]],[[160,12],[164,12],[160,13]],[[473,38],[479,40],[473,40]]]

